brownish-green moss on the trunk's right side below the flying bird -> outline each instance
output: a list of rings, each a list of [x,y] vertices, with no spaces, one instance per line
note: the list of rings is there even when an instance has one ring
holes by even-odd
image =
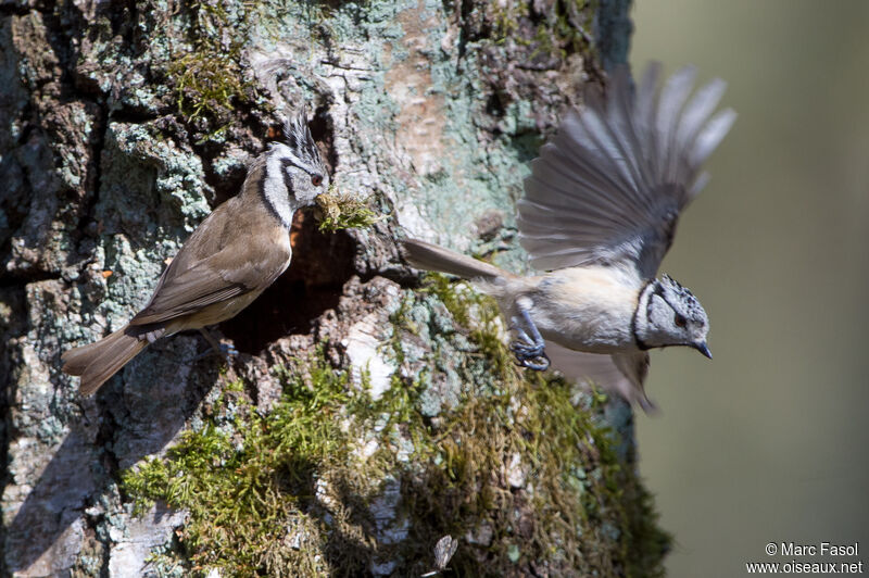
[[[473,327],[468,337],[484,354],[491,381],[488,392],[468,391],[437,428],[410,425],[429,443],[414,456],[421,470],[405,473],[405,503],[412,519],[429,523],[412,526],[408,542],[490,537],[462,542],[452,563],[462,576],[527,575],[534,567],[557,576],[663,574],[669,537],[619,457],[620,435],[602,419],[605,395],[578,394],[551,374],[516,367],[499,338],[494,301],[458,287],[429,275],[425,291]],[[413,554],[425,560],[423,548]]]

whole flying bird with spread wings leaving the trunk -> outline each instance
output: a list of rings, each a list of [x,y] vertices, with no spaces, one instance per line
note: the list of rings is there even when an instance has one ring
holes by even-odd
[[[519,241],[543,272],[520,277],[405,240],[408,262],[474,279],[511,319],[517,361],[609,387],[648,411],[648,350],[688,345],[711,357],[709,321],[691,291],[655,278],[681,211],[706,183],[701,165],[735,114],[711,116],[725,90],[713,80],[692,98],[685,67],[658,90],[650,65],[634,90],[616,71],[607,97],[571,111],[531,162],[518,203]]]

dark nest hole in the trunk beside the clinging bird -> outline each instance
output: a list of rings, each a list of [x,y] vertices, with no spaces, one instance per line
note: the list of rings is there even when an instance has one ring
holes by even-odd
[[[282,337],[310,334],[325,311],[338,306],[354,274],[355,243],[347,233],[319,233],[313,216],[300,211],[290,239],[290,267],[248,309],[221,324],[241,352],[256,355]]]

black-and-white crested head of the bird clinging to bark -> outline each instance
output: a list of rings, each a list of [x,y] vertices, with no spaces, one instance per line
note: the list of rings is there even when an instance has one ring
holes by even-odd
[[[314,204],[329,189],[329,173],[304,111],[284,125],[286,142],[273,142],[266,152],[264,192],[269,204],[289,226],[295,209]]]

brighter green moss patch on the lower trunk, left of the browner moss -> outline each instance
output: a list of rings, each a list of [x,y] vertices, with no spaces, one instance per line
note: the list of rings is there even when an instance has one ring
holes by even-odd
[[[287,379],[286,391],[267,415],[230,384],[202,429],[184,434],[164,458],[123,475],[136,512],[154,500],[189,512],[179,538],[193,571],[310,576],[327,567],[316,555],[328,545],[318,539],[327,532],[326,519],[311,513],[316,482],[354,462],[341,420],[367,407],[368,398],[349,390],[347,374],[322,359],[305,365],[304,377],[277,373]]]

